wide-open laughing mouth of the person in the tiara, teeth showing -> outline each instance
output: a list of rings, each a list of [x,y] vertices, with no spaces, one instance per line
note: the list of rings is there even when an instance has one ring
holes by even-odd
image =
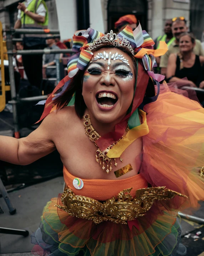
[[[111,92],[100,92],[96,95],[96,100],[101,107],[111,108],[113,107],[118,98]]]

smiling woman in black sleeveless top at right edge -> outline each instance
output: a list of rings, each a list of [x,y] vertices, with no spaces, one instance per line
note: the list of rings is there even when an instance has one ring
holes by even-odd
[[[168,82],[184,82],[181,78],[187,77],[191,87],[199,87],[204,80],[202,66],[204,57],[193,53],[195,38],[192,33],[183,33],[179,39],[179,53],[172,53],[168,59]]]

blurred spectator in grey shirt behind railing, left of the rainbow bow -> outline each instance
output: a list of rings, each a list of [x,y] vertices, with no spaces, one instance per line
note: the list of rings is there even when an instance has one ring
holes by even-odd
[[[48,38],[46,39],[47,49],[60,49],[55,44],[55,39],[53,39],[52,35],[48,35]],[[44,65],[43,68],[46,68],[46,77],[47,78],[56,78],[56,68],[48,68],[49,66],[56,65],[56,59],[60,59],[60,54],[45,54],[44,56]]]

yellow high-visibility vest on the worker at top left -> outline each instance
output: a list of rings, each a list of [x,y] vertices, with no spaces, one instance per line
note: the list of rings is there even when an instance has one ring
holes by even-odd
[[[25,4],[25,2],[24,2]],[[31,11],[32,13],[36,13],[37,8],[40,4],[43,4],[46,9],[46,16],[45,16],[45,22],[44,23],[37,23],[34,19],[32,19],[29,15],[26,15],[24,11],[21,11],[21,25],[22,28],[38,28],[38,29],[47,29],[48,26],[48,9],[47,5],[44,0],[33,0],[31,3],[27,6],[27,10]],[[30,35],[31,36],[31,35]],[[34,35],[32,35],[34,36]],[[39,35],[35,35],[39,36]],[[42,35],[40,35],[42,37]]]

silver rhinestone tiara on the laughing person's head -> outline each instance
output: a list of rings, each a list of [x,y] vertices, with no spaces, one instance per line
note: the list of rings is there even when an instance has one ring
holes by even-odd
[[[90,43],[88,45],[87,50],[92,51],[102,45],[113,45],[115,47],[122,46],[122,47],[127,48],[129,50],[129,52],[131,52],[133,55],[135,54],[134,49],[131,46],[131,44],[129,43],[129,41],[127,39],[125,39],[124,37],[123,38],[118,37],[118,35],[113,33],[113,30],[111,30],[110,33],[107,33],[106,35],[104,35],[104,37],[99,37],[99,38],[93,40],[93,43]]]

